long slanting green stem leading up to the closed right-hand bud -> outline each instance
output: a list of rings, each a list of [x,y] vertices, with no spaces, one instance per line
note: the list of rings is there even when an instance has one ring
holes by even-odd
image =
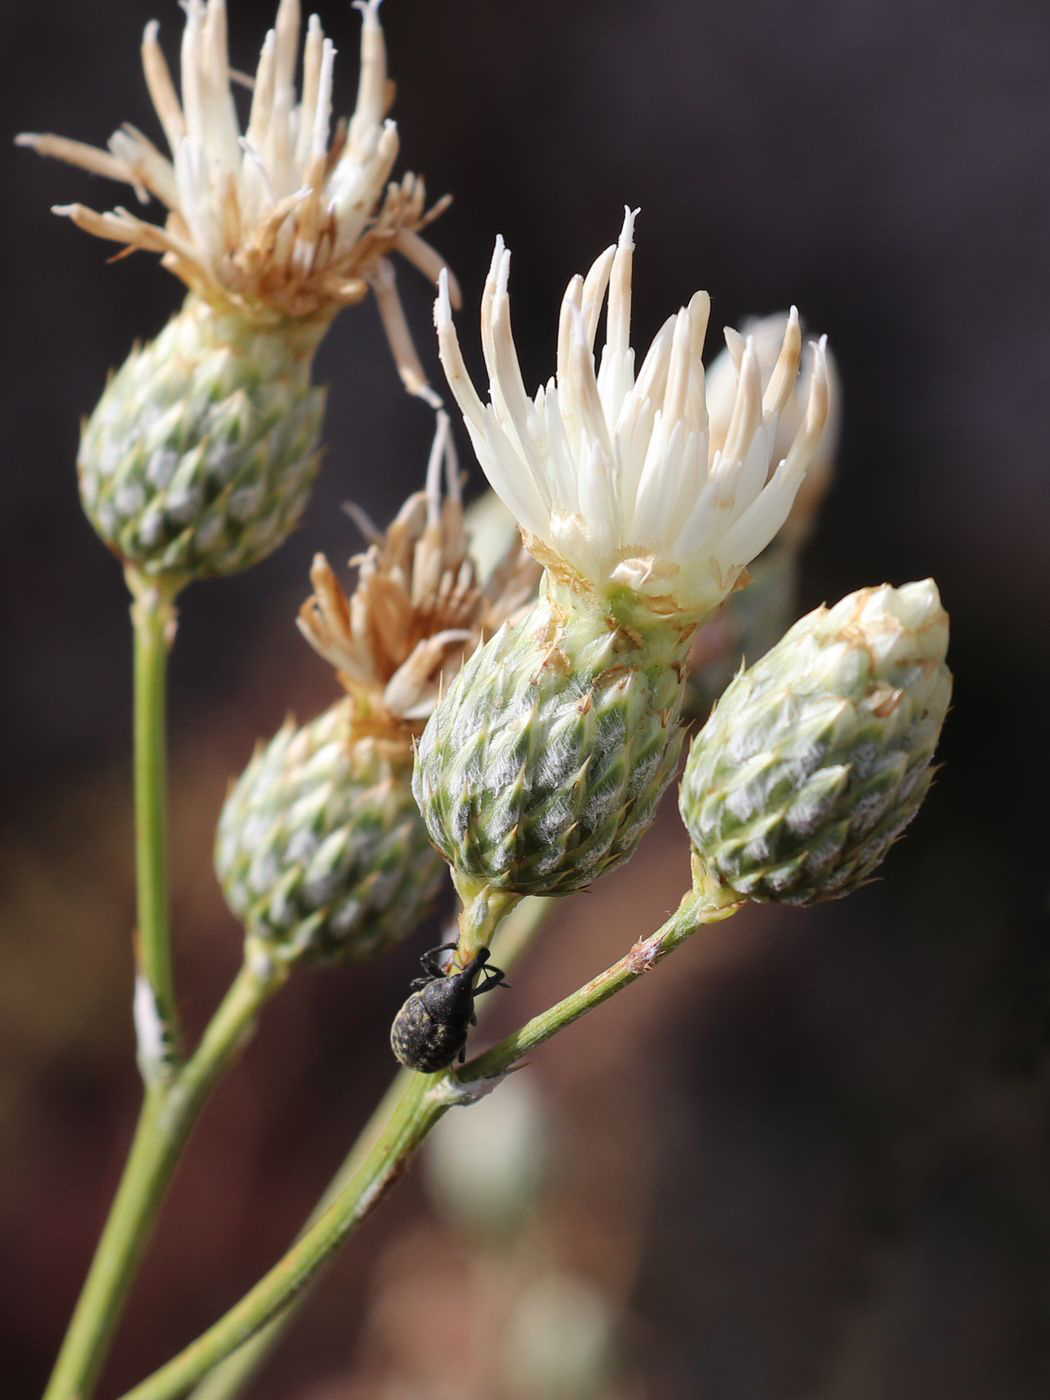
[[[456,1103],[470,1103],[486,1092],[479,1081],[497,1079],[515,1060],[606,1001],[703,924],[727,918],[739,903],[713,900],[703,893],[685,896],[671,918],[650,938],[637,942],[612,967],[594,977],[521,1030],[470,1061],[459,1074],[409,1074],[386,1127],[364,1154],[329,1208],[314,1221],[284,1257],[196,1341],[154,1371],[122,1400],[176,1400],[224,1357],[253,1337],[314,1278],[343,1240],[405,1172],[410,1156],[437,1120]],[[399,1077],[400,1079],[400,1077]],[[221,1394],[221,1392],[220,1392]]]

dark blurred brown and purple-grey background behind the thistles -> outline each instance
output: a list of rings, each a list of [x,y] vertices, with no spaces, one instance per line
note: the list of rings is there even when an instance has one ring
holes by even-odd
[[[272,6],[230,8],[232,60],[253,69]],[[137,59],[151,17],[174,59],[168,0],[6,7],[4,129],[154,134]],[[357,17],[339,0],[322,18],[347,109]],[[643,210],[636,346],[699,286],[718,329],[797,301],[844,384],[799,610],[934,574],[955,710],[881,882],[710,930],[539,1051],[503,1119],[504,1091],[477,1110],[487,1135],[480,1117],[447,1120],[475,1144],[466,1163],[448,1141],[399,1186],[252,1394],[1046,1397],[1050,13],[388,0],[384,24],[402,168],[455,195],[433,241],[463,283],[470,363],[494,234],[514,249],[535,384],[561,288],[624,202]],[[42,1387],[139,1102],[126,598],[80,514],[77,423],[181,294],[146,255],[106,266],[105,245],[48,213],[122,190],[4,158],[0,1315],[3,1390],[21,1400]],[[430,291],[407,267],[399,281],[435,370]],[[333,697],[293,627],[311,556],[347,557],[340,503],[385,522],[426,462],[431,416],[402,393],[371,304],[337,321],[319,371],[328,458],[302,528],[182,606],[172,857],[190,1030],[239,958],[210,871],[225,784],[287,711]],[[633,864],[559,911],[491,1029],[619,956],[686,881],[669,795]],[[389,1018],[438,931],[300,973],[270,1008],[178,1175],[102,1394],[286,1247],[386,1082]],[[494,1203],[465,1193],[514,1133],[526,1179]]]

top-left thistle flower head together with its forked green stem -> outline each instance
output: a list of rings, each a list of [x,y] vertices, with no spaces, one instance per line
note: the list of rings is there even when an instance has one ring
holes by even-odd
[[[105,1358],[164,1187],[218,1074],[280,984],[280,960],[246,960],[203,1040],[183,1054],[171,959],[167,876],[167,655],[175,598],[193,578],[228,574],[276,549],[316,472],[323,391],[314,351],[343,305],[375,291],[406,386],[435,402],[407,337],[391,255],[427,276],[440,259],[420,238],[441,210],[423,183],[388,185],[398,133],[378,0],[363,6],[361,74],[350,120],[332,129],[335,50],[309,21],[297,98],[298,0],[281,0],[241,132],[223,0],[190,0],[182,95],[157,25],[143,69],[169,147],[125,126],[97,150],[59,136],[20,143],[129,185],[167,210],[153,224],[123,207],[62,206],[81,228],[146,249],[186,286],[161,335],[136,347],[81,437],[85,512],[125,566],[134,627],[136,994],[146,1098],[49,1396],[87,1394]]]

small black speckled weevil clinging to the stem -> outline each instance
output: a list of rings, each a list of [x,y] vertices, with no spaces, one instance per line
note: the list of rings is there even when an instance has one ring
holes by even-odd
[[[476,1022],[475,997],[493,987],[510,987],[500,967],[490,967],[489,949],[480,948],[459,972],[447,973],[441,953],[455,948],[442,944],[420,958],[424,977],[412,983],[412,991],[393,1018],[391,1049],[406,1070],[433,1072],[452,1064],[456,1056],[466,1058],[466,1035]],[[482,974],[480,986],[473,980]]]

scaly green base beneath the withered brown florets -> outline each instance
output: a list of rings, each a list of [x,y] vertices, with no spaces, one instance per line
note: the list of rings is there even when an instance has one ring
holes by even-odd
[[[444,876],[409,788],[412,750],[346,699],[286,724],[223,806],[216,874],[249,938],[288,962],[382,952]]]

